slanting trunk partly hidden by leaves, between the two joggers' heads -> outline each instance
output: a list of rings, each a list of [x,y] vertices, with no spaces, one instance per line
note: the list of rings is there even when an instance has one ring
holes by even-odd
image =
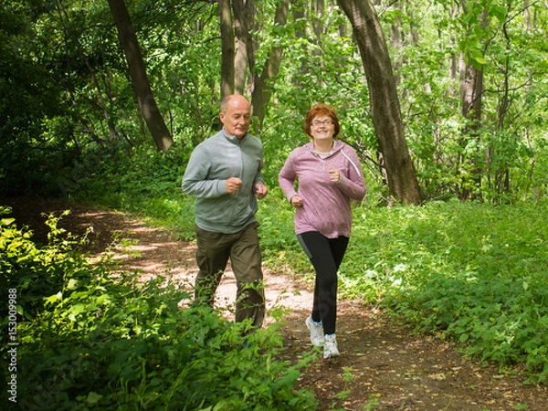
[[[274,16],[274,22],[277,26],[286,25],[289,14],[289,3],[289,0],[281,0],[279,2],[278,8],[276,9],[276,15]],[[275,47],[270,50],[269,58],[265,63],[265,67],[263,68],[260,77],[255,82],[255,87],[251,94],[253,116],[258,117],[258,130],[262,129],[262,123],[265,120],[265,109],[272,95],[272,91],[269,88],[269,80],[276,77],[279,73],[282,52],[283,50],[281,47]]]

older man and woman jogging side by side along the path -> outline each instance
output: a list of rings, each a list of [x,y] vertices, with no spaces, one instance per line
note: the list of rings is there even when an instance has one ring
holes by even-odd
[[[230,258],[237,279],[236,321],[262,325],[265,299],[258,246],[257,199],[268,189],[261,174],[262,144],[248,133],[247,99],[221,102],[223,129],[196,146],[183,177],[183,190],[196,197],[198,274],[195,301],[213,306],[216,288]],[[279,185],[295,207],[295,233],[316,271],[314,300],[306,326],[323,357],[340,355],[335,336],[337,270],[352,226],[351,200],[365,195],[364,174],[352,147],[336,139],[336,112],[323,104],[306,115],[311,138],[290,153],[279,172]],[[298,188],[295,188],[297,183]]]

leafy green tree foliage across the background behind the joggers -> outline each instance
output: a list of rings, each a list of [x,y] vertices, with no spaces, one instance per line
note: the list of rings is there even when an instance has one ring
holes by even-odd
[[[254,8],[252,74],[260,75],[273,47],[284,53],[268,85],[262,130],[252,126],[265,145],[269,186],[290,150],[308,141],[303,117],[316,101],[337,109],[342,139],[358,149],[369,180],[382,181],[363,60],[335,4],[309,10],[307,2],[290,2],[285,26],[274,24],[277,2]],[[178,150],[189,153],[218,126],[216,2],[128,7],[155,100]],[[406,140],[427,199],[472,192],[498,204],[545,191],[548,15],[532,4],[529,22],[516,7],[488,0],[460,8],[379,5]],[[82,172],[90,177],[95,164],[115,168],[117,153],[153,150],[108,5],[5,2],[0,22],[0,193],[71,195],[74,180],[79,184]],[[483,76],[473,135],[461,115],[455,64],[461,52]]]

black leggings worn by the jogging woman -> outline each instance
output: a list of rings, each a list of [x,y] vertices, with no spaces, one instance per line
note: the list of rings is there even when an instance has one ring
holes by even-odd
[[[322,322],[325,334],[334,334],[337,321],[337,270],[348,246],[348,237],[328,238],[317,231],[297,236],[316,270],[312,320]]]

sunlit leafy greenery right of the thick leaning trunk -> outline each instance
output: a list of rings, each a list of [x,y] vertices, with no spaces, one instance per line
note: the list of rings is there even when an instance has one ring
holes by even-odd
[[[543,190],[548,100],[545,76],[536,74],[546,69],[546,58],[540,58],[545,33],[527,29],[513,4],[429,7],[424,13],[420,5],[406,5],[403,18],[417,27],[418,41],[392,50],[406,138],[426,197],[464,190],[496,204]],[[467,134],[469,124],[459,115],[463,79],[452,64],[459,52],[483,78],[479,135]]]

